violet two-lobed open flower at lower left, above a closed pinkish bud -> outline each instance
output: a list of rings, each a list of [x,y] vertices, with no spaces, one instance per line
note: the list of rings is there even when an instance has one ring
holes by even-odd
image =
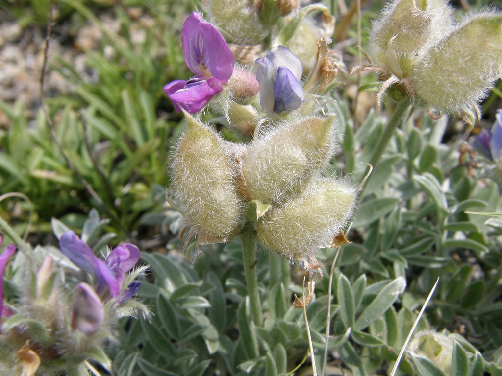
[[[140,250],[133,244],[121,244],[114,248],[106,261],[96,256],[89,246],[73,231],[66,231],[59,241],[61,252],[83,271],[96,278],[96,292],[102,294],[106,287],[110,295],[120,294],[124,274],[140,260]]]

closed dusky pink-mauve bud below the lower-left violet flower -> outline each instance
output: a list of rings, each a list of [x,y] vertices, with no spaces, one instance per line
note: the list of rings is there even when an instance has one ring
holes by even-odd
[[[71,327],[85,335],[94,334],[104,320],[104,307],[101,299],[87,283],[77,285],[73,301]]]

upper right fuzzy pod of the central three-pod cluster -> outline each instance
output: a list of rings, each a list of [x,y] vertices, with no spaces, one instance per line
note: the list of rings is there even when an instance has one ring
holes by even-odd
[[[334,116],[284,124],[256,138],[241,156],[248,201],[287,198],[319,173],[334,153]]]

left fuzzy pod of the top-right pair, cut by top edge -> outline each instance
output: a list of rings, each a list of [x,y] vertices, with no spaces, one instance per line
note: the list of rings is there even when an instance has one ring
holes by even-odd
[[[451,29],[444,0],[396,0],[373,24],[370,54],[376,65],[405,78],[419,63],[422,51]]]

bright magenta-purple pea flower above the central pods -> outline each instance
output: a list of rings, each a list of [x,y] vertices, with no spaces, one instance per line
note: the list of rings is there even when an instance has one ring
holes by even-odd
[[[176,111],[195,113],[223,90],[232,76],[235,59],[220,32],[193,12],[181,28],[183,57],[195,76],[188,81],[175,80],[163,91]]]

